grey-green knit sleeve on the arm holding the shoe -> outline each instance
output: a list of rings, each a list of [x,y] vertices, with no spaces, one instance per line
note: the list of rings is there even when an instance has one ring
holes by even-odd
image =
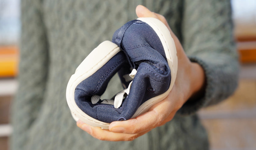
[[[200,98],[187,101],[178,113],[195,113],[235,91],[239,65],[232,32],[230,1],[184,1],[183,48],[190,60],[204,69],[206,88]]]

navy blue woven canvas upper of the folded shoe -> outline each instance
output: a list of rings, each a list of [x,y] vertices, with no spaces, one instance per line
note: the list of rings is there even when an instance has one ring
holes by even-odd
[[[147,23],[132,20],[118,29],[112,38],[121,52],[84,79],[75,89],[76,105],[87,115],[111,123],[130,119],[139,106],[163,94],[170,87],[171,73],[160,38]],[[124,78],[130,68],[136,69],[129,94],[122,105],[92,104],[93,95],[102,95],[108,82],[118,72],[124,88],[130,81]]]

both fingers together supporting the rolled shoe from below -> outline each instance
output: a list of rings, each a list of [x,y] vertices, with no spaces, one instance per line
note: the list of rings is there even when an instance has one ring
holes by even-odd
[[[147,113],[135,119],[112,122],[109,126],[110,130],[92,127],[80,120],[76,122],[76,125],[99,140],[131,141],[151,131],[153,128],[162,125],[162,122],[170,121],[172,117],[170,117],[169,111],[166,110],[172,110],[171,105],[170,101],[163,100],[155,104]]]

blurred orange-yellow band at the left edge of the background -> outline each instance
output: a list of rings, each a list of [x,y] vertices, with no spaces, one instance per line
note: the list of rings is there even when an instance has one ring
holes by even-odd
[[[0,77],[15,77],[18,73],[17,46],[0,46]]]

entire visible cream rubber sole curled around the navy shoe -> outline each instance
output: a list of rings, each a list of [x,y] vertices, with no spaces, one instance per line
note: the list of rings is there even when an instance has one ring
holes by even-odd
[[[170,87],[166,92],[154,98],[151,98],[145,103],[143,103],[138,108],[138,110],[136,111],[132,118],[135,118],[136,116],[139,116],[140,114],[147,112],[150,109],[150,107],[152,107],[154,104],[158,103],[159,101],[162,101],[164,98],[167,97],[167,95],[169,94],[170,90],[174,85],[178,67],[176,47],[173,38],[171,37],[170,32],[164,25],[164,23],[155,18],[138,18],[138,20],[146,22],[149,26],[151,26],[157,33],[158,37],[160,38],[170,67],[171,82]],[[74,100],[74,91],[76,86],[80,82],[82,82],[84,79],[88,78],[93,73],[95,73],[119,51],[120,48],[116,44],[110,41],[102,42],[84,59],[84,61],[77,67],[76,72],[70,77],[70,80],[67,84],[66,98],[71,114],[76,121],[80,119],[88,125],[108,129],[109,123],[98,121],[86,115],[86,113],[80,110],[80,108],[76,105]]]

